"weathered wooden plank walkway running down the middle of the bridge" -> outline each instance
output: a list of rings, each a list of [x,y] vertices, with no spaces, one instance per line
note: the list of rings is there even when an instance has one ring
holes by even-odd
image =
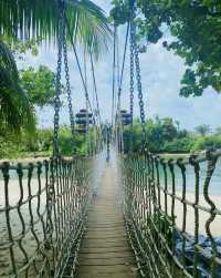
[[[99,192],[90,207],[80,251],[78,278],[138,277],[117,192],[114,171],[107,166]]]

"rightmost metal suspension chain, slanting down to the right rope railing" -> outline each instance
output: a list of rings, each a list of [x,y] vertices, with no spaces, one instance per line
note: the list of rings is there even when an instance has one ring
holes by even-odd
[[[140,111],[140,122],[141,122],[141,130],[143,130],[143,144],[145,147],[145,144],[146,144],[146,123],[145,123],[145,109],[144,109],[141,74],[140,74],[140,64],[139,64],[139,48],[136,42],[136,23],[135,23],[136,10],[135,10],[135,6],[134,6],[134,1],[131,1],[130,9],[131,9],[131,22],[130,22],[131,51],[134,52],[134,58],[135,58],[136,80],[137,80],[139,111]]]

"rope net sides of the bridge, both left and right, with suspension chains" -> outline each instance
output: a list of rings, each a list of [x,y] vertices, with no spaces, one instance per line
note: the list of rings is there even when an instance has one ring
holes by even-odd
[[[65,18],[65,2],[59,1],[59,3],[53,158],[27,165],[0,164],[0,277],[2,278],[74,277],[87,205],[93,196],[95,163],[94,158],[90,157],[90,152],[85,157],[73,156],[67,159],[61,158],[59,150],[62,62],[73,148],[77,131],[75,128],[77,121],[74,119],[72,106],[66,33],[71,39],[85,91],[86,110],[82,113],[86,120],[78,120],[78,123],[81,125],[83,121],[87,134],[92,121],[94,131],[97,132],[96,141],[103,141],[93,58],[90,53],[96,110],[92,107],[88,97],[86,63],[84,78],[76,45]],[[221,199],[214,198],[210,192],[211,181],[219,175],[215,166],[220,163],[221,152],[208,151],[203,155],[168,161],[148,152],[139,48],[136,40],[136,7],[133,0],[129,3],[130,18],[122,70],[116,25],[114,31],[112,126],[106,125],[106,143],[107,162],[112,136],[113,141],[116,141],[117,151],[122,153],[119,159],[123,209],[139,272],[143,277],[149,278],[221,278],[221,239],[218,224],[221,220]],[[128,43],[129,114],[126,111],[123,113],[120,101]],[[116,76],[118,82],[115,80]],[[133,133],[130,133],[130,154],[124,155],[124,124],[128,115],[127,123],[133,130],[136,92],[143,136],[141,154],[133,154]],[[88,119],[90,112],[92,120]],[[85,144],[88,145],[88,142]],[[95,150],[91,154],[96,154],[97,151],[101,150]]]

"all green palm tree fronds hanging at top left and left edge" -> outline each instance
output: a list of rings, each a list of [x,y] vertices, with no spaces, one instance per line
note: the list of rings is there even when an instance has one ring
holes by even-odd
[[[41,38],[56,42],[59,1],[61,0],[0,0],[0,34],[14,40]],[[110,35],[104,12],[90,0],[63,1],[73,38],[97,56],[106,49]],[[29,101],[19,85],[15,62],[1,41],[0,121],[15,131],[21,126],[34,126]]]

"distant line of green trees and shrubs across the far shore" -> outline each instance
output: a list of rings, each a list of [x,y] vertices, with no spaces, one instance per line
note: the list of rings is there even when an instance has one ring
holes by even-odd
[[[146,122],[147,141],[151,152],[155,153],[190,153],[206,148],[221,148],[221,127],[211,132],[209,125],[199,125],[193,132],[180,127],[179,122],[170,117]],[[130,126],[124,127],[124,150],[127,153],[130,145],[130,132],[133,137],[133,152],[141,148],[141,126],[138,120]],[[88,148],[94,150],[97,137],[91,130],[87,140]],[[59,145],[62,155],[84,154],[86,152],[85,135],[76,134],[74,143],[69,126],[61,126]],[[53,128],[38,128],[34,136],[24,132],[21,136],[8,134],[0,135],[0,158],[15,158],[35,155],[52,155]]]

